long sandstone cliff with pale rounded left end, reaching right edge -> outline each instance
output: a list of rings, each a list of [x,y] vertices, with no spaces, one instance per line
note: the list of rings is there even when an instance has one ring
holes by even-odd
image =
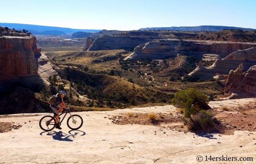
[[[225,58],[237,50],[256,47],[254,43],[213,42],[178,39],[158,39],[140,44],[125,59],[162,59],[165,56],[188,55],[197,58],[215,60]]]

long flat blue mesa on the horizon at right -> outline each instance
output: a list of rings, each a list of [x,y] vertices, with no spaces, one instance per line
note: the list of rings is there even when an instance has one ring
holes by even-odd
[[[253,28],[230,27],[230,26],[194,26],[194,27],[148,27],[140,28],[140,30],[179,30],[179,31],[220,31],[223,29],[240,29],[240,30],[256,30]]]

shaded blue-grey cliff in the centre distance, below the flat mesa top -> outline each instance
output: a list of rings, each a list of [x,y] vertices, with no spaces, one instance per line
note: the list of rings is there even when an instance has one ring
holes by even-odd
[[[90,45],[91,40],[88,40],[88,49],[87,42],[84,46],[83,51],[98,51],[98,50],[118,50],[118,49],[127,49],[133,50],[137,45],[144,44],[150,41],[148,38],[141,37],[98,37]]]

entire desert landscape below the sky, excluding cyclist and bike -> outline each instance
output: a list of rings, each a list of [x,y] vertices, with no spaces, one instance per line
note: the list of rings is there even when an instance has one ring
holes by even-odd
[[[0,26],[0,163],[253,163],[256,30],[226,28]],[[59,90],[81,129],[40,129]]]

